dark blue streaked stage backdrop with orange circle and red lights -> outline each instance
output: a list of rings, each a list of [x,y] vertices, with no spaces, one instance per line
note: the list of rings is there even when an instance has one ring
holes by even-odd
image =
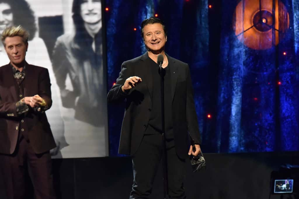
[[[146,51],[140,24],[158,14],[168,27],[166,52],[190,65],[203,152],[298,151],[299,0],[106,6],[108,90],[122,62]],[[109,152],[116,156],[124,103],[108,108]]]

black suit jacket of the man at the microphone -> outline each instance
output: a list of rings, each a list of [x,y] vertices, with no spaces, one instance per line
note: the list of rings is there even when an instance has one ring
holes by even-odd
[[[187,157],[190,147],[189,134],[195,143],[201,143],[189,66],[167,55],[170,66],[173,134],[176,152]],[[123,62],[116,84],[110,89],[108,102],[126,99],[125,114],[121,128],[119,153],[134,155],[147,128],[152,109],[153,80],[147,52],[132,60]],[[130,76],[138,76],[142,82],[127,93],[121,90]]]

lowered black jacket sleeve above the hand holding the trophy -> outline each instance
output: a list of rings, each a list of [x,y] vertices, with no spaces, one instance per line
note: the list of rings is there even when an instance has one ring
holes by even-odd
[[[201,144],[199,126],[198,126],[196,109],[194,104],[193,87],[191,82],[190,69],[188,65],[187,65],[186,83],[187,83],[186,116],[187,116],[188,131],[190,133],[191,138],[194,140],[194,143]]]

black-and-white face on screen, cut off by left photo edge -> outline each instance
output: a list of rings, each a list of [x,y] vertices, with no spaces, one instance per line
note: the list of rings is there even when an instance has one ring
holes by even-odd
[[[13,25],[13,13],[11,7],[7,3],[0,3],[0,34],[3,30]]]

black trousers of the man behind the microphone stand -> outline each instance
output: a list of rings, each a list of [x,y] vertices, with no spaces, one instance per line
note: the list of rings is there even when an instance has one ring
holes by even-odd
[[[169,198],[186,198],[183,186],[185,160],[177,156],[173,141],[166,146]],[[144,135],[132,157],[134,184],[130,199],[149,198],[162,155],[162,134]]]

